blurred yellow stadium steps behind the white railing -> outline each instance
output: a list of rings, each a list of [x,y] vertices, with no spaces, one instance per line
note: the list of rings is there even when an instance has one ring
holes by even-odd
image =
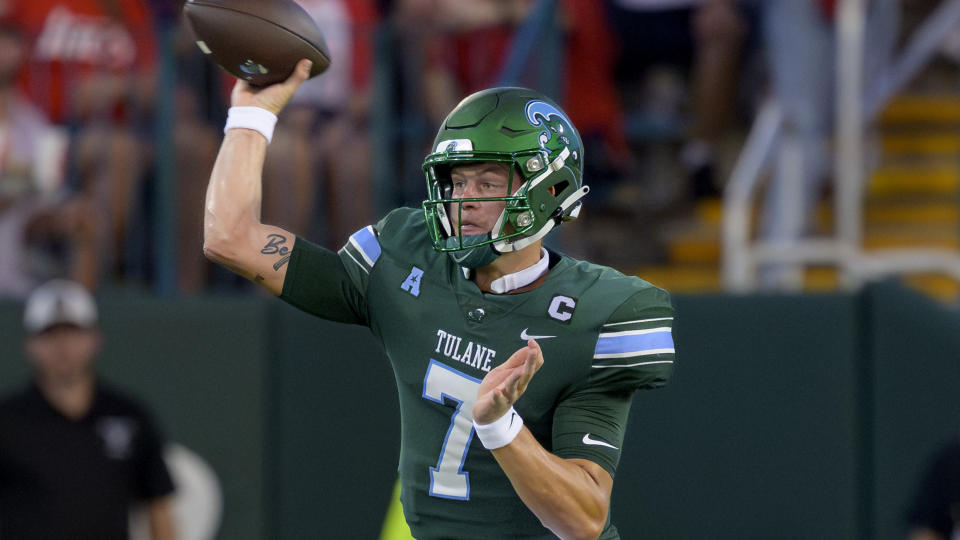
[[[865,250],[935,247],[960,250],[960,94],[906,94],[893,100],[868,135],[875,155],[864,201]],[[833,228],[830,194],[815,228]],[[690,219],[662,232],[666,262],[636,268],[644,279],[673,292],[722,289],[722,203],[697,203]],[[956,301],[960,284],[942,275],[910,275],[910,286]],[[834,268],[808,268],[807,291],[838,288]]]

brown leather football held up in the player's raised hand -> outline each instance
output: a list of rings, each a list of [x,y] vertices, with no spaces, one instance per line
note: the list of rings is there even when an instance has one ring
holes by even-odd
[[[320,28],[293,0],[187,0],[183,13],[207,58],[254,86],[286,79],[301,58],[311,77],[330,66]]]

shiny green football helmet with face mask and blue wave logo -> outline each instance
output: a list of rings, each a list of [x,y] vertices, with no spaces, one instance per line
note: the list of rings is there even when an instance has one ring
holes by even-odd
[[[508,166],[508,195],[454,198],[451,169],[483,162]],[[461,101],[443,121],[423,171],[429,197],[423,210],[433,247],[470,268],[523,249],[576,218],[589,191],[577,130],[553,100],[526,88],[492,88]],[[506,204],[492,231],[464,236],[453,230],[450,213],[461,212],[467,201]]]

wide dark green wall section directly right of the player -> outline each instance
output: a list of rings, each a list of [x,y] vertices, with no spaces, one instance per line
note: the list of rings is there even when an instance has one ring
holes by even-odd
[[[670,384],[637,394],[624,538],[856,538],[855,298],[678,296]]]

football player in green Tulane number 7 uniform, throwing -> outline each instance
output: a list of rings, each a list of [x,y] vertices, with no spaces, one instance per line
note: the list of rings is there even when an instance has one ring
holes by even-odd
[[[467,97],[424,161],[423,207],[333,252],[259,220],[275,115],[308,73],[302,61],[283,83],[234,87],[206,255],[381,341],[415,537],[619,538],[609,506],[627,413],[670,375],[673,309],[645,281],[543,248],[588,191],[574,126],[531,90]]]

